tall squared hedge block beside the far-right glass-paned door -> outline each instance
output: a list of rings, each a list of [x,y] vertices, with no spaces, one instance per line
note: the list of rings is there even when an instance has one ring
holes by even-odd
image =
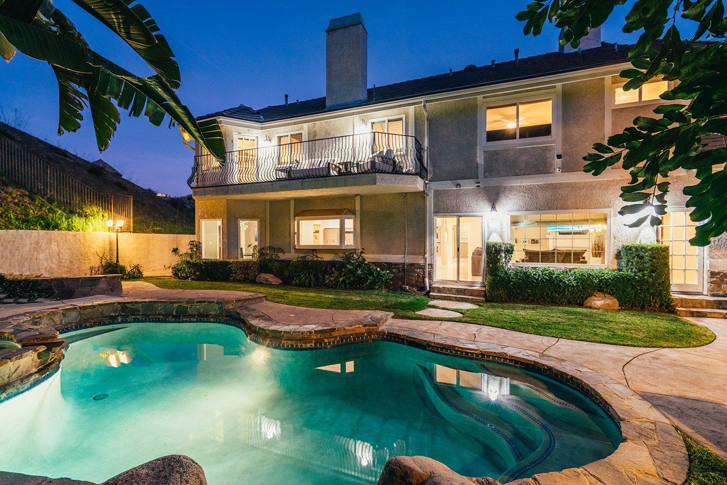
[[[619,249],[621,268],[640,281],[644,302],[652,308],[672,310],[669,246],[663,244],[624,244]]]

